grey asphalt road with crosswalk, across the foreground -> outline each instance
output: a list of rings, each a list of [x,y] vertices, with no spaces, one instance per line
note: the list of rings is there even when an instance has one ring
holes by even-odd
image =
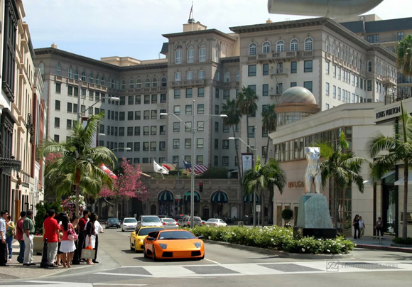
[[[102,269],[3,286],[412,286],[412,254],[357,249],[349,261],[312,261],[206,244],[202,261],[144,259],[129,249],[130,232],[99,235]],[[327,266],[329,268],[327,268]],[[73,284],[75,283],[75,284]]]

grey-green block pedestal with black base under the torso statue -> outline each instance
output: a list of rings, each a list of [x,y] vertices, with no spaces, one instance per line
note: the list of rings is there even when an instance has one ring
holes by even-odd
[[[293,228],[294,234],[334,238],[336,229],[330,219],[327,199],[318,193],[307,193],[299,199],[298,222]]]

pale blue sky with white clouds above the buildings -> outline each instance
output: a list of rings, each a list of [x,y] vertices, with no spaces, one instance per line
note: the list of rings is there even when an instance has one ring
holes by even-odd
[[[270,14],[267,0],[193,0],[195,21],[229,33],[229,27],[310,18]],[[166,33],[183,31],[192,0],[23,0],[34,48],[58,48],[100,59],[159,58]],[[396,9],[394,9],[396,7]],[[411,0],[384,0],[369,13],[382,19],[411,16]],[[161,55],[163,58],[164,56]]]

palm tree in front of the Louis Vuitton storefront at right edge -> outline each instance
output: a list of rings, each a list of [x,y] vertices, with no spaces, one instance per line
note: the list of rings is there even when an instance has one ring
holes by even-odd
[[[367,141],[367,150],[372,158],[376,158],[371,165],[372,180],[380,180],[386,173],[396,166],[399,161],[403,162],[403,223],[402,238],[406,239],[408,232],[408,167],[412,163],[412,117],[403,110],[401,102],[401,116],[396,129],[399,134],[395,137],[384,136],[380,131]],[[381,151],[387,151],[380,156]]]

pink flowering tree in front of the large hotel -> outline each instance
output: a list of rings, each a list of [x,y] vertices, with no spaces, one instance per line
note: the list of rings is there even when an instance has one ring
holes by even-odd
[[[110,197],[114,204],[114,215],[119,217],[119,204],[123,205],[124,200],[129,198],[137,198],[144,201],[148,197],[146,186],[140,180],[141,169],[140,166],[130,164],[126,158],[122,158],[121,169],[123,173],[117,175],[117,179],[112,182],[112,188],[104,185],[100,190],[100,197]]]

